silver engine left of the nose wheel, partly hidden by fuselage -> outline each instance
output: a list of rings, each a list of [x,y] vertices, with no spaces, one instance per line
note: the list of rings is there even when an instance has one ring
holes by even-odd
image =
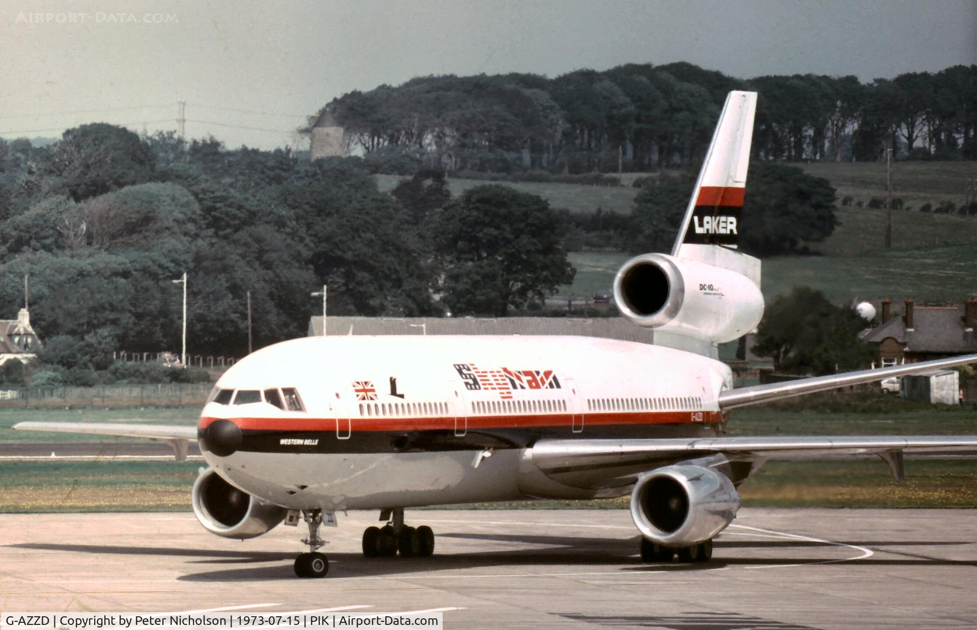
[[[284,521],[288,512],[237,489],[209,468],[193,483],[191,503],[204,529],[240,540],[268,532]]]

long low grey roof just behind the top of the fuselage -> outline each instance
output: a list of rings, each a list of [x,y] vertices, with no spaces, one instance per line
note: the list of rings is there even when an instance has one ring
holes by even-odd
[[[653,343],[651,330],[623,317],[329,317],[330,335],[579,335]],[[309,336],[322,334],[322,317]]]

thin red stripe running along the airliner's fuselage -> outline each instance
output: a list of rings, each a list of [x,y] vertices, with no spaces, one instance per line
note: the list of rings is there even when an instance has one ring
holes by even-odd
[[[215,420],[221,418],[200,418],[200,429],[205,429]],[[336,418],[227,418],[245,431],[335,431]],[[464,418],[458,418],[464,422]],[[345,429],[346,424],[352,425],[353,431],[431,431],[454,430],[453,416],[438,417],[372,417],[372,418],[340,418]],[[643,424],[712,424],[722,421],[719,411],[625,411],[625,412],[593,412],[583,414],[584,426],[600,425],[643,425]],[[576,423],[579,424],[579,416]],[[469,431],[479,429],[520,429],[528,427],[569,427],[573,425],[573,416],[566,413],[535,414],[535,415],[495,415],[469,416],[467,428]]]

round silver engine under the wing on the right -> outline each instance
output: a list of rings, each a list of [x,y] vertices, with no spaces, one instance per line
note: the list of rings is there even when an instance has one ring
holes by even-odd
[[[631,492],[631,518],[649,540],[688,547],[722,531],[736,518],[740,495],[722,473],[677,464],[648,473]]]

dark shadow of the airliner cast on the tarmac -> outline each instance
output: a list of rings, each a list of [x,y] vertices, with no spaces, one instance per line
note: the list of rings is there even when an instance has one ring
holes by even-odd
[[[637,558],[636,550],[639,537],[594,538],[579,536],[552,535],[510,535],[510,534],[476,534],[476,533],[441,533],[444,538],[466,540],[497,541],[502,543],[522,543],[540,545],[540,547],[521,550],[473,551],[467,553],[439,553],[431,558],[374,558],[364,559],[359,553],[327,553],[330,561],[330,576],[332,577],[383,577],[409,576],[416,572],[488,569],[491,567],[618,567],[621,571],[695,571],[722,567],[771,567],[818,564],[853,564],[878,566],[970,566],[977,567],[977,561],[948,560],[924,554],[914,554],[906,551],[907,547],[932,546],[960,546],[972,544],[971,541],[868,541],[846,542],[848,545],[858,545],[872,548],[878,554],[864,560],[845,560],[846,550],[843,547],[827,543],[805,540],[720,540],[716,542],[715,556],[710,562],[683,564],[648,564],[642,565]],[[543,547],[545,545],[545,547]],[[226,551],[211,549],[184,549],[171,547],[136,547],[112,545],[70,545],[24,543],[9,545],[20,549],[36,549],[45,551],[61,551],[89,554],[123,554],[133,556],[172,556],[187,559],[189,565],[248,565],[239,568],[224,568],[188,573],[178,577],[185,581],[252,581],[265,579],[281,579],[294,577],[292,561],[294,552],[266,552],[266,551]],[[837,552],[824,556],[821,554],[793,553],[772,556],[728,557],[728,550],[757,550],[770,551],[828,548]],[[900,549],[889,549],[896,547]],[[884,555],[884,557],[882,557]],[[275,566],[254,567],[255,564],[276,563]],[[286,564],[278,564],[286,563]],[[568,569],[569,570],[569,569]],[[451,574],[446,574],[449,577]]]

